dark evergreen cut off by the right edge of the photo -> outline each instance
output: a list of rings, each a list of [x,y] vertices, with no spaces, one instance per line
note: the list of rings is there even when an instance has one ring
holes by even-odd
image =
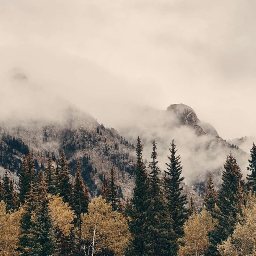
[[[247,175],[248,180],[247,187],[252,190],[253,193],[256,192],[256,146],[252,143],[252,149],[250,149],[251,159],[248,159],[249,167],[246,167],[251,173]]]

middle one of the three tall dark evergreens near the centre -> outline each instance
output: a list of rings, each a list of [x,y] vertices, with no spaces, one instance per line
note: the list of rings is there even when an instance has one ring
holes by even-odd
[[[144,256],[174,255],[176,250],[172,221],[161,189],[161,181],[158,177],[160,170],[157,166],[156,157],[156,142],[153,141],[152,162],[148,166],[151,172],[149,174],[149,205],[146,210],[145,230],[147,236],[145,237],[146,251],[143,254]]]

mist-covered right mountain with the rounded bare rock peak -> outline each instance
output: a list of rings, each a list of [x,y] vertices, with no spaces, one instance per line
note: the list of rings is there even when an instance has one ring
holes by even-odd
[[[174,139],[177,154],[181,156],[182,175],[185,183],[194,188],[198,195],[204,193],[204,185],[211,171],[217,188],[221,184],[221,172],[227,154],[232,152],[245,175],[249,152],[244,152],[222,139],[216,129],[198,119],[195,111],[184,104],[171,104],[166,110],[151,107],[131,109],[129,121],[116,124],[118,131],[131,141],[139,135],[143,144],[143,155],[151,153],[152,141],[157,142],[159,165],[164,170],[170,154],[168,148]],[[123,125],[124,124],[124,125]],[[232,127],[230,127],[232,129]],[[252,145],[252,141],[251,141]]]

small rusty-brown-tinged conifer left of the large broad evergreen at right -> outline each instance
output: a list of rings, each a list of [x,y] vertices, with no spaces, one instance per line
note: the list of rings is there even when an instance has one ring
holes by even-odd
[[[213,212],[215,204],[218,202],[218,194],[214,189],[214,181],[212,180],[212,174],[209,172],[209,178],[207,180],[205,195],[204,195],[204,206],[206,211]]]

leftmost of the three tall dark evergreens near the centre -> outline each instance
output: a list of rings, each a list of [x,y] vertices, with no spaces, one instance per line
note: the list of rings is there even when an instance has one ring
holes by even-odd
[[[137,162],[135,165],[135,187],[133,189],[133,196],[131,199],[131,207],[129,211],[130,220],[128,226],[132,235],[130,240],[127,255],[143,255],[147,252],[145,247],[145,232],[146,223],[146,209],[148,208],[148,177],[146,167],[142,159],[142,145],[140,137],[137,140],[136,155]]]

